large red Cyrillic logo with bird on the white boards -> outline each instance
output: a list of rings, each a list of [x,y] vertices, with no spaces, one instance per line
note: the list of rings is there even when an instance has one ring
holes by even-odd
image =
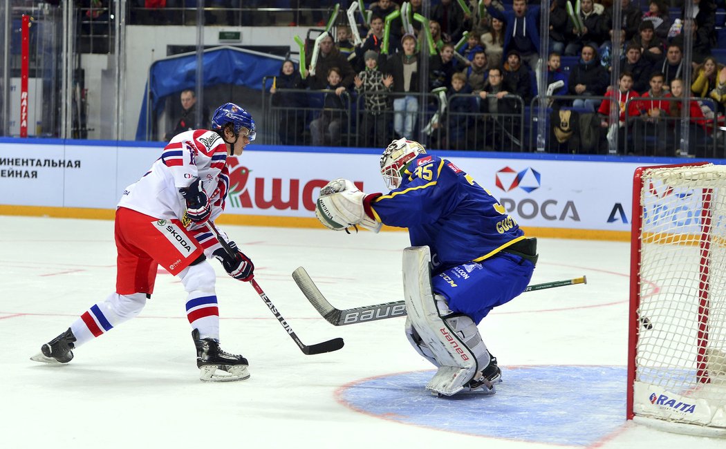
[[[237,157],[227,157],[229,194],[227,203],[240,209],[315,210],[317,191],[327,179],[253,178],[253,170],[240,164]],[[363,181],[354,181],[361,191]]]

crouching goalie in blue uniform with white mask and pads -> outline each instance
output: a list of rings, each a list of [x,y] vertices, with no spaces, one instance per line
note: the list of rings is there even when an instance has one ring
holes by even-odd
[[[317,218],[328,228],[408,228],[404,250],[406,336],[439,369],[426,388],[439,395],[492,394],[497,359],[477,324],[521,294],[537,263],[537,240],[486,189],[449,160],[399,139],[380,158],[391,191],[365,194],[346,179],[320,191]]]

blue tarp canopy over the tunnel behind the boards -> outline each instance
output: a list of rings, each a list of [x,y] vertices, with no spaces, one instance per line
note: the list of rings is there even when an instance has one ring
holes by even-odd
[[[235,49],[224,46],[205,50],[203,54],[203,84],[234,84],[249,88],[262,88],[262,78],[280,73],[284,58]],[[144,95],[136,140],[147,140],[147,126],[156,120],[160,105],[166,96],[179,94],[187,88],[196,88],[197,54],[161,59],[154,62],[147,81],[149,96]],[[147,101],[151,101],[151,113],[147,122]]]

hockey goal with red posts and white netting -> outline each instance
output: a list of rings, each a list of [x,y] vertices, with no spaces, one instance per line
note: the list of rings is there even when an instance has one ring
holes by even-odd
[[[627,418],[726,436],[726,166],[633,183]]]

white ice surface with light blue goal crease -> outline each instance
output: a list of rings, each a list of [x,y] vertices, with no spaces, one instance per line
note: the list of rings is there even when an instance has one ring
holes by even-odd
[[[403,318],[335,327],[290,273],[303,265],[338,308],[400,300],[407,234],[223,226],[307,345],[303,355],[251,286],[218,263],[221,343],[251,379],[197,379],[184,290],[160,271],[139,318],[76,350],[67,366],[28,358],[115,285],[113,223],[0,217],[0,448],[722,448],[723,440],[627,423],[629,245],[540,239],[529,292],[482,321],[504,382],[497,395],[446,400]],[[458,446],[461,444],[461,446]],[[446,446],[444,446],[446,445]],[[467,446],[475,447],[475,446]]]

